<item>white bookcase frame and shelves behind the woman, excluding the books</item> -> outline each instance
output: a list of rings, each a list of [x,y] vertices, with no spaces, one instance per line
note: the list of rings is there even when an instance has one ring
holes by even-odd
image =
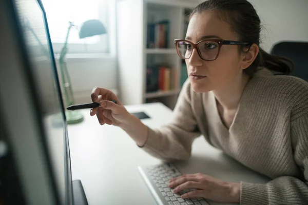
[[[117,48],[121,82],[119,93],[124,105],[142,104],[157,97],[169,108],[175,107],[180,89],[146,92],[147,68],[166,66],[175,69],[176,72],[171,74],[176,75],[174,79],[180,81],[182,59],[177,54],[174,39],[185,36],[185,13],[195,8],[200,2],[201,0],[117,1],[117,37],[118,44],[121,45]],[[164,20],[169,22],[166,36],[167,48],[147,48],[149,23],[156,24]],[[136,49],[131,52],[132,48]],[[179,88],[179,86],[171,88]]]

